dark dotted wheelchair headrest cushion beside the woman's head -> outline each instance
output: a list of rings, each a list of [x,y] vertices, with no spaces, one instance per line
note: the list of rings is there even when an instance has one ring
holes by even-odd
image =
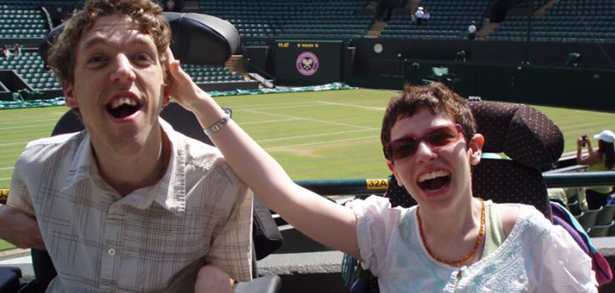
[[[485,136],[485,153],[505,153],[527,167],[556,162],[563,152],[563,135],[547,116],[525,104],[469,102],[478,133]]]

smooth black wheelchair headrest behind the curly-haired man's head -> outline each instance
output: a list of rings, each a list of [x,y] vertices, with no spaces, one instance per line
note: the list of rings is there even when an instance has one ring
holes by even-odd
[[[172,32],[171,51],[183,64],[221,65],[237,50],[239,32],[226,20],[201,13],[163,12]],[[64,24],[54,28],[39,46],[47,61],[47,51]]]

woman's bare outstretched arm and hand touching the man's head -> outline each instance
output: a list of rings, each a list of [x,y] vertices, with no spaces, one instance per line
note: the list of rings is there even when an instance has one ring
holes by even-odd
[[[225,116],[216,102],[201,90],[167,51],[172,83],[167,93],[192,111],[203,128]],[[210,136],[233,171],[271,210],[300,232],[320,243],[361,259],[356,216],[341,205],[295,184],[284,169],[240,126],[230,120]]]

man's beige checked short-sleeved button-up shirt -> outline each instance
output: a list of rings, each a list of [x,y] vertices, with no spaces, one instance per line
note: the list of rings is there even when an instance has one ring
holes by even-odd
[[[35,140],[8,205],[36,216],[58,276],[47,292],[192,292],[204,264],[250,280],[252,191],[216,148],[175,132],[163,179],[120,196],[86,131]]]

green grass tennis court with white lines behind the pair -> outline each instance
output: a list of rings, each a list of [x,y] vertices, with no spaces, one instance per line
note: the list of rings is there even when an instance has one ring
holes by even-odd
[[[233,119],[293,179],[377,178],[389,174],[380,147],[382,113],[389,90],[335,90],[218,97]],[[575,150],[583,133],[614,128],[615,114],[537,107],[556,121]],[[0,188],[29,140],[49,136],[65,107],[0,111]]]

